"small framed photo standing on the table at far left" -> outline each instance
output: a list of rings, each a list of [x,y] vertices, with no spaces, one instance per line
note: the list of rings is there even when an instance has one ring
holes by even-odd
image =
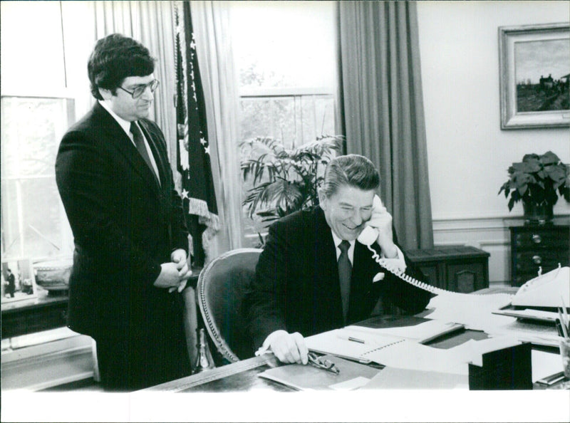
[[[38,286],[29,258],[11,258],[1,262],[1,304],[38,298]]]

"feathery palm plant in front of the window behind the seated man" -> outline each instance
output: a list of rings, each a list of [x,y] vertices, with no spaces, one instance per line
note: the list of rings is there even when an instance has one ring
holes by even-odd
[[[341,135],[317,137],[293,149],[270,137],[240,143],[247,191],[242,204],[258,234],[272,221],[318,204],[317,189],[324,169],[333,152],[341,151],[342,144]]]

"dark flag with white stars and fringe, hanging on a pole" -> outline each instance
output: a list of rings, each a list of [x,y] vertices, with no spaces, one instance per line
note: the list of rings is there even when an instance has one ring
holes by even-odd
[[[175,3],[175,23],[177,168],[182,174],[182,204],[192,236],[192,264],[204,266],[204,244],[219,229],[219,217],[210,164],[204,92],[187,1]]]

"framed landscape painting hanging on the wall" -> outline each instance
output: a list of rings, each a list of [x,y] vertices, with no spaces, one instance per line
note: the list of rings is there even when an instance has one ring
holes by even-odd
[[[501,129],[570,126],[570,24],[499,26]]]

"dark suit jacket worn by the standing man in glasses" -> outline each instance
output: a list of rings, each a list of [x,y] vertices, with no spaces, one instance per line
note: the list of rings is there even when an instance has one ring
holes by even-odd
[[[152,285],[174,249],[188,250],[182,201],[162,132],[150,120],[139,123],[160,186],[99,103],[66,132],[56,160],[75,242],[68,326],[95,340],[128,335],[158,343],[183,337],[180,295]]]

